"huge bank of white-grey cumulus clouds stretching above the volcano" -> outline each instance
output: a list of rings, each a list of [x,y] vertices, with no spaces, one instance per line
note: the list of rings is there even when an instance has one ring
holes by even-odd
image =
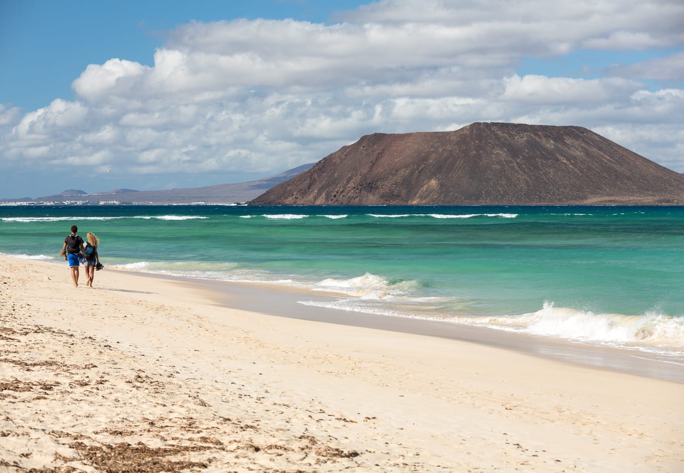
[[[684,129],[682,90],[642,82],[681,81],[681,52],[611,66],[609,77],[518,75],[516,67],[585,48],[681,48],[683,18],[675,0],[630,8],[382,0],[329,25],[192,22],[171,32],[152,66],[125,58],[86,66],[73,81],[75,101],[23,116],[0,105],[0,153],[144,175],[146,188],[163,188],[156,176],[171,173],[198,186],[206,182],[193,175],[315,162],[366,133],[511,121],[603,131],[681,172],[682,136],[672,129]]]

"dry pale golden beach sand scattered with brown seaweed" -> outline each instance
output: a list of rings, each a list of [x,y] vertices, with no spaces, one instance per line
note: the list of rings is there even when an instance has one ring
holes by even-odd
[[[0,471],[684,471],[683,383],[0,267]]]

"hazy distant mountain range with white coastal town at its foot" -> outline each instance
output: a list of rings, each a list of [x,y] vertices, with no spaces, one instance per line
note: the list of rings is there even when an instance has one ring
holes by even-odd
[[[62,204],[189,204],[189,203],[242,203],[250,201],[277,184],[311,168],[314,163],[302,164],[293,169],[281,172],[272,177],[257,181],[218,184],[201,188],[169,189],[169,190],[133,190],[115,189],[107,192],[88,194],[83,190],[69,189],[60,194],[39,197],[38,199],[2,199],[0,202],[21,203],[62,203]]]

